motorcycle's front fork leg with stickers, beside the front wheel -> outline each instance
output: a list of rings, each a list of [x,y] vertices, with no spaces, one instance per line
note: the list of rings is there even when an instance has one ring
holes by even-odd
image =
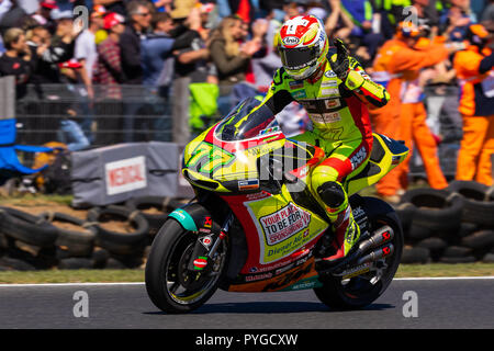
[[[229,212],[222,228],[220,229],[220,233],[211,233],[209,235],[198,237],[188,265],[190,271],[202,271],[209,265],[211,259],[214,258],[217,248],[225,239],[233,219],[233,213]]]

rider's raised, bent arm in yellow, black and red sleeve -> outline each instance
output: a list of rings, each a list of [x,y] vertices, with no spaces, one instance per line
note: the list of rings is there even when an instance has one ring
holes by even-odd
[[[360,100],[377,107],[382,107],[390,101],[390,93],[386,89],[373,82],[362,66],[352,57],[350,57],[349,68],[345,87],[351,90]]]

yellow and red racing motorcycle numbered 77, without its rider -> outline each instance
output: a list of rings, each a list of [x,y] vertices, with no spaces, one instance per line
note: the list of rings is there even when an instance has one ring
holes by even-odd
[[[287,138],[258,100],[242,101],[184,149],[182,174],[195,197],[170,213],[154,239],[145,270],[151,302],[167,313],[188,313],[220,287],[313,288],[336,309],[371,304],[397,270],[403,231],[389,204],[357,192],[408,152],[403,143],[373,138],[367,167],[344,183],[361,237],[328,263],[322,259],[334,253],[335,234],[310,188],[324,150]]]

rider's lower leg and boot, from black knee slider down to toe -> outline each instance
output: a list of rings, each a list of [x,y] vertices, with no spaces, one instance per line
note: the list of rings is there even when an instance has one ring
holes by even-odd
[[[348,195],[338,182],[326,182],[318,188],[317,193],[326,204],[326,214],[329,217],[335,240],[334,253],[324,258],[326,262],[336,263],[347,256],[353,245],[360,238],[360,227],[353,218],[353,213],[348,203]]]

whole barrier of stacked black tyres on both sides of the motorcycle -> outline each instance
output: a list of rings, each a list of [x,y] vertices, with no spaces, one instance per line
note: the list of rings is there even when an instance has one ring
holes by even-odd
[[[182,204],[135,197],[90,208],[85,219],[0,206],[0,271],[143,267],[155,234]],[[493,208],[493,188],[475,182],[406,192],[395,206],[405,234],[402,262],[494,262]]]

